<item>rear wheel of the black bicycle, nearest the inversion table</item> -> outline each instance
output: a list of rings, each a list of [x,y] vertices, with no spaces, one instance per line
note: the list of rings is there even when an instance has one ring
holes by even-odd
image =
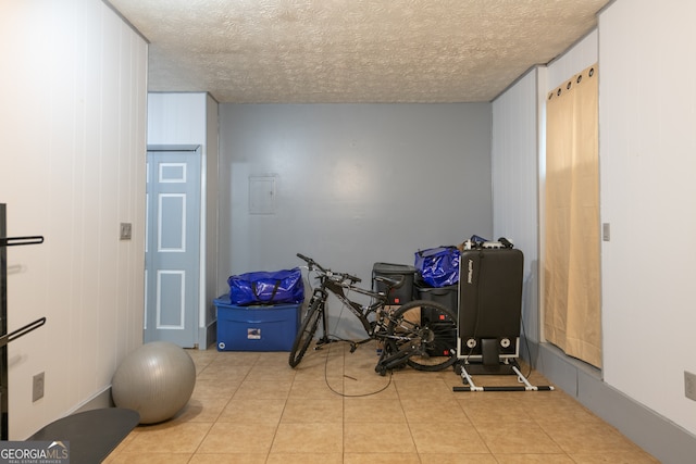
[[[414,369],[442,371],[457,361],[457,315],[435,301],[410,301],[389,316],[386,339],[391,353],[414,349],[407,360]]]

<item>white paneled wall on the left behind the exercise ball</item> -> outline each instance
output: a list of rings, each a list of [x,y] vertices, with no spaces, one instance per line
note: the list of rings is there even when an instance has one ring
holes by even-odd
[[[0,43],[0,202],[9,235],[46,238],[8,252],[10,330],[48,319],[9,350],[24,439],[107,391],[142,341],[147,45],[98,0],[2,2]]]

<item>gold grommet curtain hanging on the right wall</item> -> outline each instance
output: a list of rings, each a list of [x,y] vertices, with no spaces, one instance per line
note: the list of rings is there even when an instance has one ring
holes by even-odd
[[[544,330],[601,367],[597,80],[589,66],[547,99]]]

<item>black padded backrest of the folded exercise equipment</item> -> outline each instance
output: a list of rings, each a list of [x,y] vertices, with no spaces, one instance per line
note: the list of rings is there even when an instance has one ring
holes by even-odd
[[[520,250],[465,250],[459,260],[457,356],[497,365],[518,358],[524,256]]]

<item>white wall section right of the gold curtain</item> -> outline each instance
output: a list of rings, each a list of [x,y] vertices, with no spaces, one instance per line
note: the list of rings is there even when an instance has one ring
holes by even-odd
[[[692,434],[695,17],[693,2],[622,0],[599,18],[605,379]]]

